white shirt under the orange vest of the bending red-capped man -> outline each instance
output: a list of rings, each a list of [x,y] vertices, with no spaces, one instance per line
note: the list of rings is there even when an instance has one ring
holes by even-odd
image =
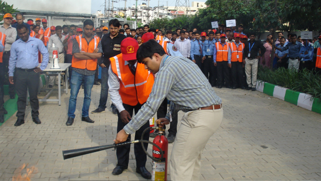
[[[124,61],[125,65],[128,65],[128,61]],[[137,67],[137,62],[134,65]],[[119,94],[119,89],[120,89],[120,80],[118,76],[111,70],[111,66],[109,65],[108,69],[108,86],[109,86],[109,95],[110,95],[110,100],[111,102],[116,106],[117,110],[120,112],[124,111],[125,108],[122,105],[122,100],[121,96]]]

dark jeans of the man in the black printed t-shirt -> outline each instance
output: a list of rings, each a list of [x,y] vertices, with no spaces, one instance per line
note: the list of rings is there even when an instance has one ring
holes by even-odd
[[[105,110],[108,98],[108,68],[101,68],[101,89],[100,89],[100,99],[99,99],[99,109]]]

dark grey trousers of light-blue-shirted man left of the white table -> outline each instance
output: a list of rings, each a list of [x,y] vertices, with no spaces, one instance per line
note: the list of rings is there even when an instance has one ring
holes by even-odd
[[[34,71],[25,71],[16,68],[14,73],[14,82],[16,92],[18,95],[18,119],[25,119],[26,102],[27,102],[27,90],[29,91],[30,106],[32,109],[31,116],[33,118],[39,116],[39,101],[38,101],[38,87],[40,73]]]

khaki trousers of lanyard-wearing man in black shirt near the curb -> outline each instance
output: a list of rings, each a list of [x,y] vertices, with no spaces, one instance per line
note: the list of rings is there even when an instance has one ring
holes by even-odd
[[[253,60],[245,58],[246,82],[249,87],[256,87],[258,62],[259,60],[257,58]]]

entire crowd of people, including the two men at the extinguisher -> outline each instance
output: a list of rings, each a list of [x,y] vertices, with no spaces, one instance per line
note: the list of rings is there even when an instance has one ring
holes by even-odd
[[[4,24],[0,27],[0,50],[3,50],[0,53],[0,122],[4,122],[7,114],[3,87],[9,80],[10,98],[15,99],[15,94],[18,95],[15,126],[25,123],[27,90],[32,119],[41,124],[37,98],[39,77],[51,61],[49,53],[57,47],[59,63],[71,63],[66,125],[73,125],[76,118],[81,87],[84,89],[81,121],[94,123],[89,118],[93,85],[101,85],[101,91],[99,105],[91,113],[105,112],[109,106],[109,93],[110,107],[118,116],[116,143],[130,139],[133,133],[135,139],[139,139],[143,130],[149,127],[150,117],[157,113],[157,124],[165,126],[170,123],[169,142],[179,142],[173,148],[175,154],[172,157],[177,159],[171,159],[171,166],[176,168],[171,172],[172,179],[196,179],[199,176],[201,152],[223,119],[222,101],[212,87],[255,91],[259,64],[296,71],[303,68],[321,70],[321,36],[317,37],[318,40],[300,40],[296,34],[284,38],[279,32],[275,42],[272,35],[262,42],[256,40],[255,33],[244,34],[242,24],[237,29],[220,25],[218,30],[206,32],[186,27],[163,32],[149,25],[133,29],[128,24],[121,25],[117,19],[110,20],[108,27],[101,25],[97,28],[91,20],[85,20],[82,27],[48,27],[46,19],[36,18],[35,23],[29,19],[25,23],[21,13],[16,15],[15,23],[13,19],[11,14],[5,14]],[[271,60],[273,53],[275,58]],[[101,67],[100,83],[98,67]],[[59,83],[61,80],[57,77],[50,77],[48,86],[52,88]],[[200,128],[207,130],[208,134],[204,136],[199,128],[193,132],[196,129],[193,126],[181,126],[184,131],[178,133],[179,110],[189,113],[182,119],[186,125],[201,118]],[[202,110],[205,111],[201,114]],[[189,135],[197,137],[200,132],[203,138],[185,139]],[[146,134],[144,139],[157,134],[157,131]],[[196,146],[186,150],[184,145],[188,141]],[[144,147],[147,149],[147,145]],[[136,172],[150,178],[141,145],[135,144],[134,150]],[[130,146],[116,149],[118,162],[112,174],[118,175],[127,169],[129,151]],[[182,155],[185,153],[187,157],[192,155],[191,159],[184,160]]]

